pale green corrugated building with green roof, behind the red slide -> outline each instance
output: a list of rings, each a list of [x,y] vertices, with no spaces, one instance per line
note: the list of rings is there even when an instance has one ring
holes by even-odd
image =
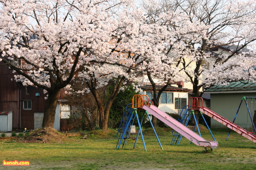
[[[206,90],[211,95],[211,110],[233,122],[242,97],[256,97],[256,84],[245,81],[230,82],[229,85],[212,86]],[[248,100],[248,108],[253,117],[256,110],[256,100]],[[236,120],[234,122],[241,128],[251,128],[252,122],[249,117],[245,102],[243,101]],[[215,120],[211,120],[211,128],[227,128]]]

